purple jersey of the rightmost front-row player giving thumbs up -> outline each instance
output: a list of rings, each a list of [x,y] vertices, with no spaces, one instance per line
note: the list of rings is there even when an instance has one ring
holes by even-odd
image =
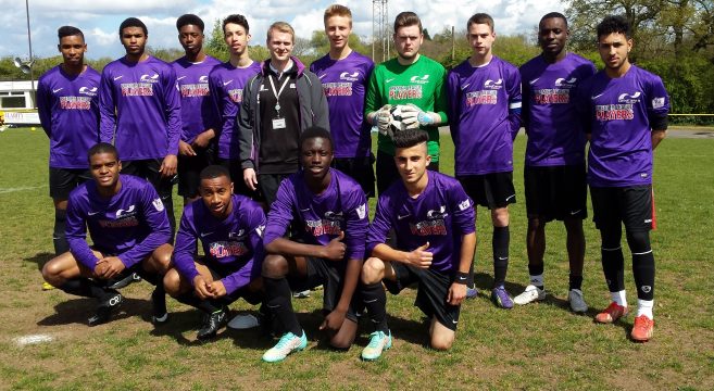
[[[474,202],[461,184],[447,175],[427,171],[429,182],[416,198],[400,180],[379,195],[377,211],[367,232],[366,255],[385,243],[390,229],[397,249],[413,251],[429,242],[434,260],[429,268],[453,273],[461,263],[462,236],[476,230]]]

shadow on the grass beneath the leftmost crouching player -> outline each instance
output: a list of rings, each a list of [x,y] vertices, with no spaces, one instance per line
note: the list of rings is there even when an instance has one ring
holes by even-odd
[[[97,310],[97,300],[89,298],[76,298],[64,301],[54,306],[54,314],[40,319],[39,326],[60,326],[79,324],[87,325],[87,319],[95,314]],[[125,319],[133,316],[139,316],[142,319],[150,320],[151,304],[147,300],[124,298],[122,305],[112,314],[112,321]]]

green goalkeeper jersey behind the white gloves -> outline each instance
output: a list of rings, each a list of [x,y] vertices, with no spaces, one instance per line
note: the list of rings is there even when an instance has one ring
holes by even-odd
[[[396,58],[377,65],[369,78],[364,105],[365,116],[385,104],[414,103],[424,111],[439,114],[441,125],[446,125],[446,74],[441,64],[425,55],[419,55],[411,65],[402,65]],[[422,126],[422,129],[429,134],[428,152],[431,161],[438,162],[439,128]],[[377,138],[377,149],[390,155],[394,154],[394,143],[383,134]]]

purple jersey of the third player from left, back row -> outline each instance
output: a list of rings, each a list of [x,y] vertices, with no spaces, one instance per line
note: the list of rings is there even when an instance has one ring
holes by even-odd
[[[171,64],[181,99],[181,140],[191,143],[196,136],[211,129],[217,115],[209,91],[209,74],[221,61],[206,55],[202,62],[192,63],[183,56]]]

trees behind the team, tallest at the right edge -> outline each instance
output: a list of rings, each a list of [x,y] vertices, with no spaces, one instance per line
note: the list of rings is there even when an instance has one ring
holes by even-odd
[[[602,68],[596,47],[596,26],[605,15],[625,15],[632,25],[635,39],[631,60],[662,77],[669,92],[672,113],[714,114],[714,0],[569,0],[566,3],[571,51]],[[497,25],[497,34],[498,30]],[[534,25],[529,34],[498,35],[493,52],[519,66],[540,52],[536,34],[537,26]],[[425,29],[424,35],[425,42],[421,52],[447,68],[452,68],[471,55],[465,26],[456,28],[453,34],[450,27],[434,35]],[[262,42],[263,37],[254,37],[253,41]],[[365,38],[352,35],[350,46],[362,54],[373,54],[372,43]],[[218,60],[228,59],[221,21],[216,20],[211,31],[206,31],[204,47],[209,54]],[[296,37],[293,54],[310,64],[328,49],[325,31],[315,30],[310,38]],[[164,61],[173,61],[184,54],[180,49],[149,48],[149,51]],[[255,60],[270,56],[267,49],[261,45],[250,47],[250,53]],[[379,46],[376,46],[374,54],[375,59],[383,58]],[[387,58],[394,55],[391,49]],[[88,63],[101,72],[112,60],[102,58],[88,60]],[[61,61],[60,55],[36,59],[35,76]],[[0,59],[0,80],[28,79],[29,75],[14,66],[12,58]],[[713,124],[714,117],[673,117],[673,122]]]

